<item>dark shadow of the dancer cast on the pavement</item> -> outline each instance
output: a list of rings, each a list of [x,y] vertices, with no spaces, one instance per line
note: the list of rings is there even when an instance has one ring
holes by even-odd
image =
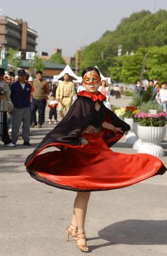
[[[90,245],[89,248],[93,251],[113,244],[167,244],[166,234],[167,220],[125,220],[99,230],[99,237],[87,240],[104,239],[108,241],[99,245]]]

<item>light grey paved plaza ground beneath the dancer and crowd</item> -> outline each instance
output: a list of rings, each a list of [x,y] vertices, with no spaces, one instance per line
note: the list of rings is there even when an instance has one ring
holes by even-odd
[[[111,99],[122,107],[129,101]],[[76,193],[37,182],[25,172],[25,158],[53,127],[31,129],[32,147],[23,146],[21,138],[15,148],[0,144],[1,256],[83,255],[75,243],[66,242]],[[161,145],[167,166],[167,134]],[[112,150],[136,152],[124,139]],[[92,192],[85,230],[89,255],[166,256],[167,173],[127,188]]]

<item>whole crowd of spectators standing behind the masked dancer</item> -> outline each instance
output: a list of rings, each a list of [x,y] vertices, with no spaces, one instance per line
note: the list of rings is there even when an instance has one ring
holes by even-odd
[[[48,124],[57,124],[57,108],[61,118],[68,112],[76,99],[76,93],[85,90],[82,84],[75,85],[69,74],[61,77],[61,82],[50,86],[48,81],[43,79],[43,73],[38,70],[36,79],[29,76],[24,69],[18,70],[18,76],[14,72],[6,73],[0,68],[0,135],[6,147],[15,147],[20,128],[22,130],[23,145],[31,146],[29,142],[30,127],[42,128],[45,123],[45,108],[48,104]],[[163,111],[167,111],[167,85],[149,81],[154,99],[161,105]],[[104,104],[110,109],[110,97],[119,99],[120,87],[118,85],[107,84],[101,81],[99,92],[105,95]],[[134,93],[143,95],[145,87],[136,81]],[[49,96],[50,95],[50,96]],[[36,112],[38,111],[38,120]],[[53,121],[54,118],[54,121]],[[10,138],[11,134],[11,138]]]

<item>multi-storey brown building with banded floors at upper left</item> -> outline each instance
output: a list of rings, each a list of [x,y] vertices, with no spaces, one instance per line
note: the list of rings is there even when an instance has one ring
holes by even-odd
[[[28,27],[22,19],[13,20],[0,16],[1,50],[18,49],[21,52],[36,52],[37,32]]]

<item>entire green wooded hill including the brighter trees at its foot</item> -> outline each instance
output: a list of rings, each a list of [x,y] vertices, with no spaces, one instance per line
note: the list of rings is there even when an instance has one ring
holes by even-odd
[[[117,57],[119,45],[122,45],[122,56]],[[159,10],[156,13],[143,10],[122,19],[115,31],[106,31],[98,41],[83,48],[81,69],[98,65],[103,74],[112,76],[115,81],[122,81],[125,74],[126,79],[132,75],[133,80],[134,77],[140,76],[143,55],[148,52],[148,74],[145,74],[145,77],[154,78],[157,66],[161,64],[156,61],[155,56],[159,55],[160,51],[161,57],[163,54],[163,60],[167,57],[167,49],[164,45],[167,45],[166,10]],[[153,62],[152,56],[154,56]],[[162,62],[160,56],[158,59]],[[153,64],[156,65],[155,70],[151,70]],[[118,67],[122,73],[120,76],[117,74]],[[129,72],[129,67],[133,67],[134,70]]]

